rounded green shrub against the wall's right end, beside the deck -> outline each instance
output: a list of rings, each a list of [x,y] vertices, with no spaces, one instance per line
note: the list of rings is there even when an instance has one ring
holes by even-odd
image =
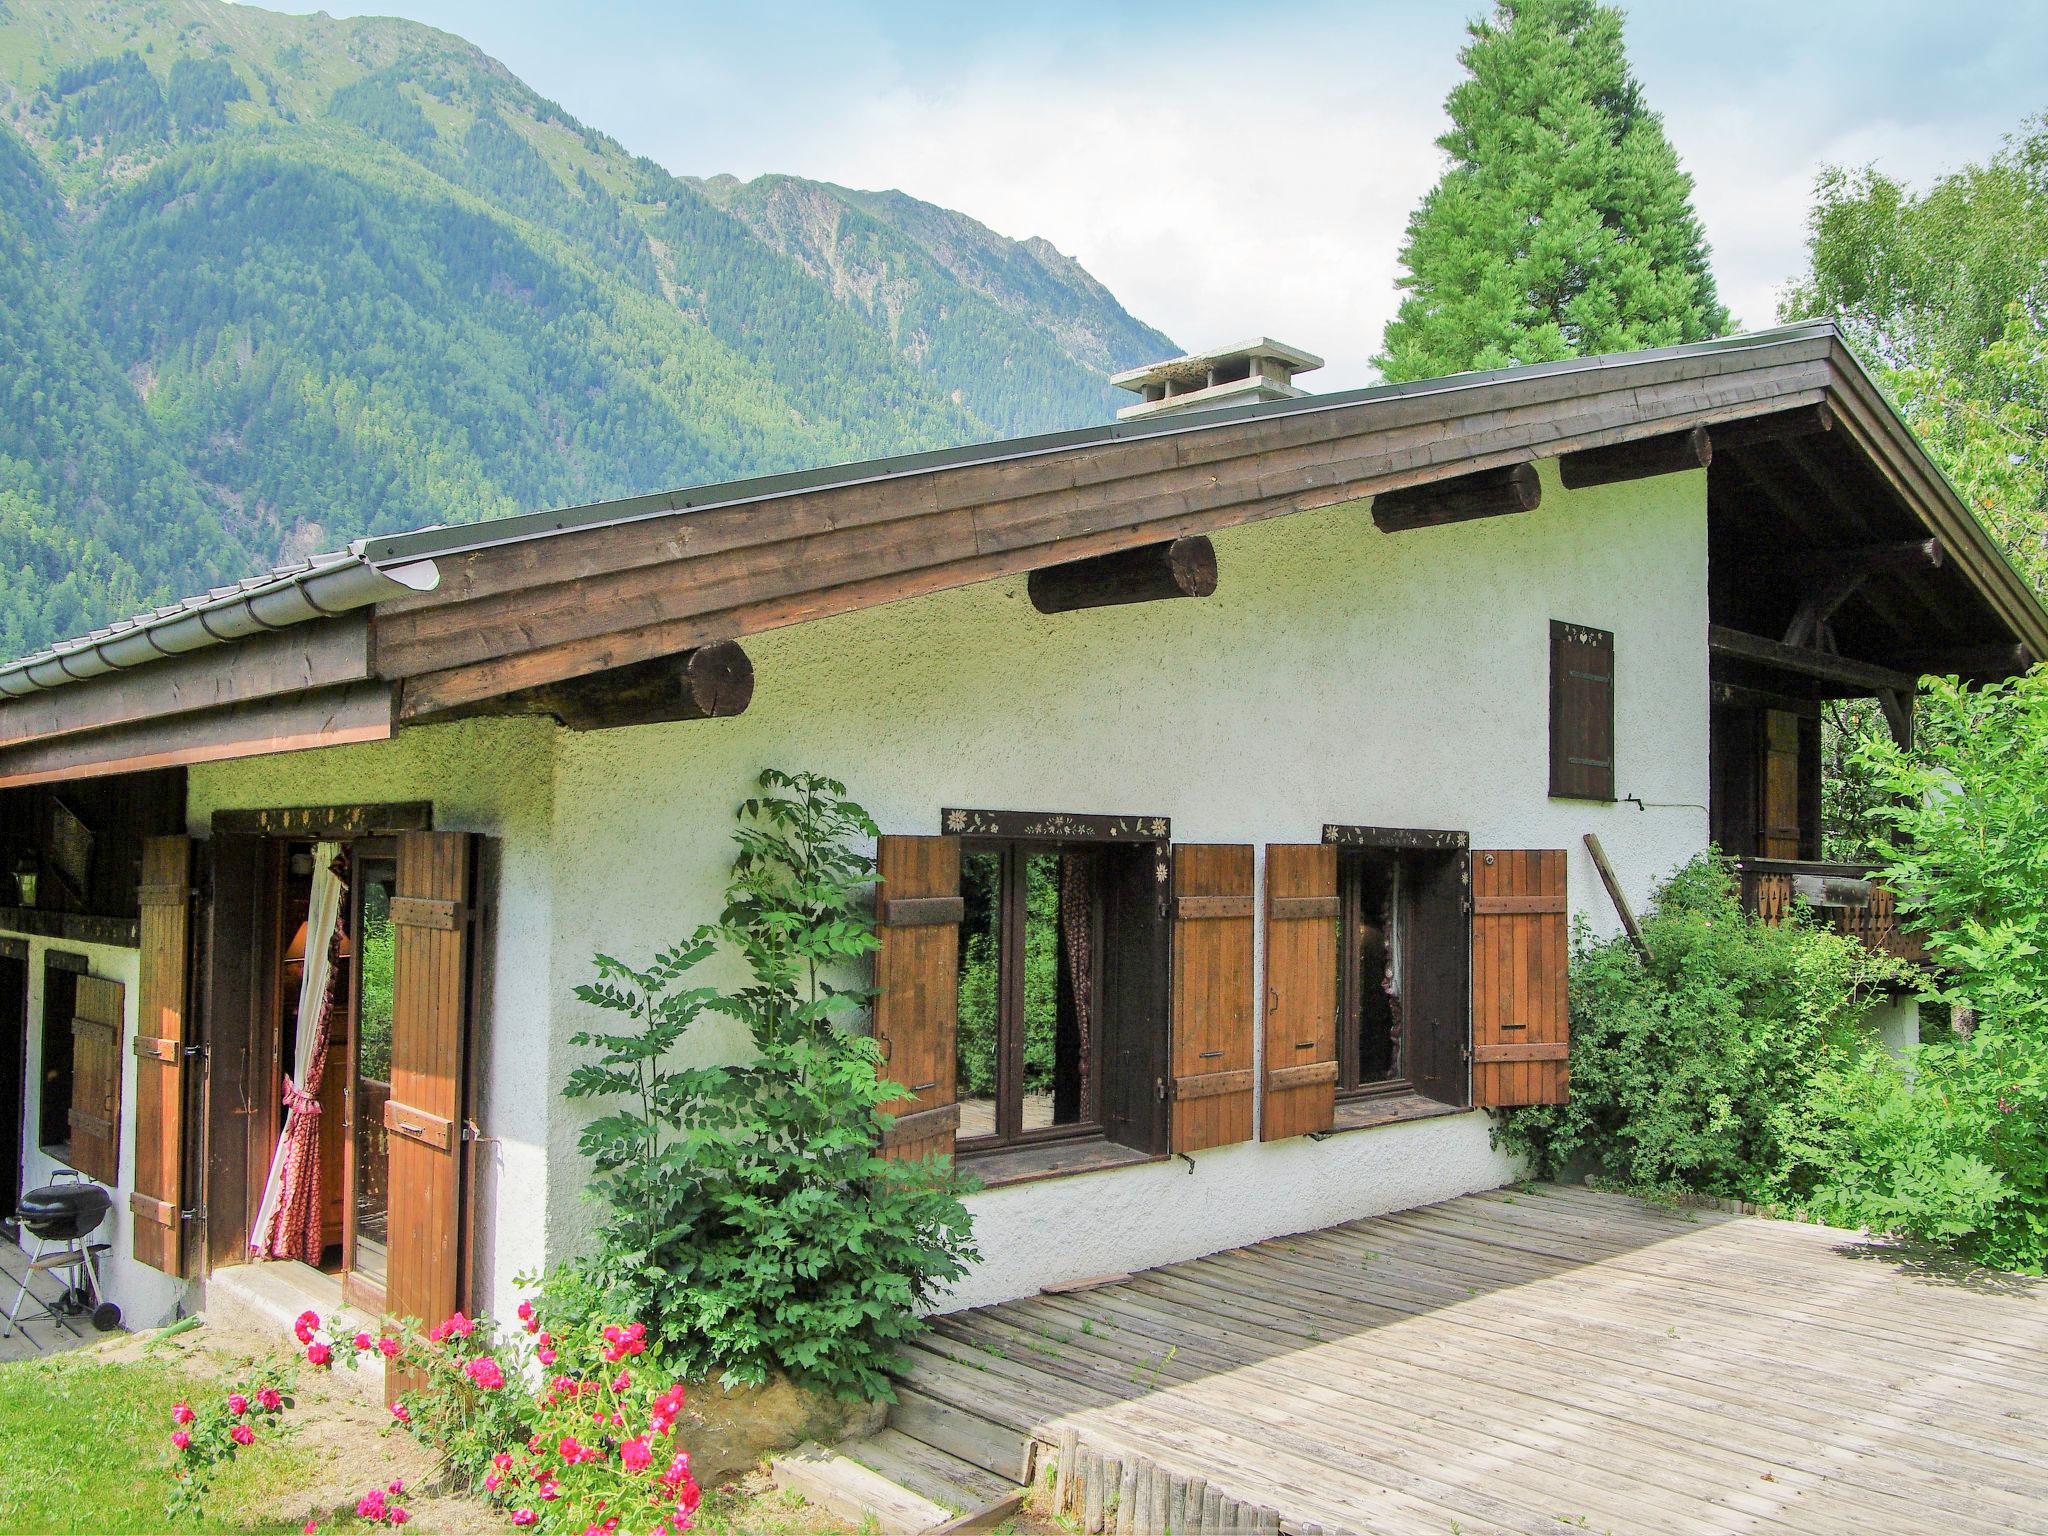
[[[1497,1139],[1546,1176],[1782,1198],[1815,1075],[1855,1051],[1849,1026],[1903,967],[1798,920],[1757,922],[1714,854],[1671,874],[1642,936],[1649,961],[1575,928],[1569,1102],[1505,1110]]]

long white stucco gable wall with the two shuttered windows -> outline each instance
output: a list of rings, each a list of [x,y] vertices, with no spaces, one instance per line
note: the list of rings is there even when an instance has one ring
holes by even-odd
[[[743,717],[559,735],[557,1036],[594,950],[645,956],[717,913],[762,766],[844,778],[885,831],[969,805],[1167,815],[1178,842],[1341,821],[1565,848],[1573,909],[1612,930],[1581,834],[1634,901],[1706,844],[1706,475],[1567,494],[1542,473],[1524,516],[1382,535],[1352,504],[1219,535],[1200,602],[1042,616],[1004,580],[756,635]],[[1548,799],[1552,618],[1616,635],[1618,793],[1640,807]],[[707,1026],[696,1051],[735,1047]],[[584,1184],[573,1126],[557,1110],[557,1235]],[[1516,1169],[1487,1141],[1466,1114],[991,1190],[954,1303],[1495,1186]]]

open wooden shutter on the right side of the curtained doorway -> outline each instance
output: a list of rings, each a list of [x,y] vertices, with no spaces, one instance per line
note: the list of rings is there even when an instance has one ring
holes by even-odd
[[[389,1278],[385,1311],[432,1327],[461,1305],[463,1081],[477,848],[401,831],[391,891]],[[414,1382],[385,1372],[385,1391]]]

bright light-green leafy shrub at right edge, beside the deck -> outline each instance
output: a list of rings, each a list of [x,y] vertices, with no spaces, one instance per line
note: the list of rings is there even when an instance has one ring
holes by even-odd
[[[1931,680],[1913,752],[1868,733],[1888,797],[1886,881],[1937,961],[1966,1038],[1903,1063],[1833,1063],[1802,1145],[1817,1214],[2048,1268],[2048,668],[1991,688]]]

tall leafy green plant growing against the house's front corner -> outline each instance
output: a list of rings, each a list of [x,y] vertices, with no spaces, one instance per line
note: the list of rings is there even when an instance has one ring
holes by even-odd
[[[578,1284],[639,1319],[668,1364],[731,1384],[774,1372],[887,1399],[895,1346],[977,1257],[950,1163],[877,1147],[903,1087],[858,1032],[877,948],[864,909],[874,836],[844,784],[768,770],[739,807],[725,909],[653,961],[600,954],[582,1001],[621,1020],[584,1030],[596,1061],[567,1096],[600,1112],[580,1145],[604,1206]],[[715,954],[745,983],[696,985]],[[750,1061],[678,1065],[707,1014],[741,1024]],[[557,1288],[551,1286],[551,1292]]]

